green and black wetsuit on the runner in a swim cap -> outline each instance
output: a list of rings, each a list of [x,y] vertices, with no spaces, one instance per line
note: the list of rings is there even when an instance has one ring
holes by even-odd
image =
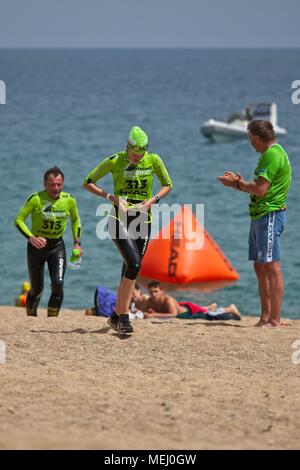
[[[159,155],[146,152],[137,164],[128,159],[126,151],[118,152],[105,158],[85,178],[84,184],[96,183],[106,174],[111,173],[114,183],[114,195],[127,199],[129,203],[137,204],[152,197],[153,175],[156,175],[162,186],[172,187],[172,181]],[[114,216],[109,217],[108,231],[110,238],[118,247],[124,263],[122,275],[128,279],[136,279],[141,268],[141,261],[146,252],[151,224],[148,214],[130,211],[126,221],[119,217],[117,207]],[[139,219],[139,236],[132,236],[130,226]]]

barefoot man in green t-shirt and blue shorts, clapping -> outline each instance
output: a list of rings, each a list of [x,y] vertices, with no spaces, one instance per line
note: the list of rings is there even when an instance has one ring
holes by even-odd
[[[254,181],[226,171],[218,179],[224,186],[250,193],[249,260],[254,262],[261,301],[256,326],[278,327],[284,294],[280,269],[280,235],[286,220],[286,199],[291,184],[291,165],[285,150],[276,142],[269,121],[253,120],[248,125],[250,144],[261,155]]]

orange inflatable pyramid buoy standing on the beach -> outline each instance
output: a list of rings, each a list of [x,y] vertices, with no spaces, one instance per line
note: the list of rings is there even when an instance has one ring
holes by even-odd
[[[140,275],[173,284],[239,279],[220,247],[186,205],[150,241]]]

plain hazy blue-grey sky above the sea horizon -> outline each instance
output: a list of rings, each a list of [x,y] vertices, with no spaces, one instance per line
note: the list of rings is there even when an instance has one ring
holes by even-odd
[[[0,0],[0,48],[298,48],[299,19],[299,0]]]

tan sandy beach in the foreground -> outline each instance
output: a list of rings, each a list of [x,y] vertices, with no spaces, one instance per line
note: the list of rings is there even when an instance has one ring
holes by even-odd
[[[0,448],[299,449],[300,320],[254,323],[0,307]]]

